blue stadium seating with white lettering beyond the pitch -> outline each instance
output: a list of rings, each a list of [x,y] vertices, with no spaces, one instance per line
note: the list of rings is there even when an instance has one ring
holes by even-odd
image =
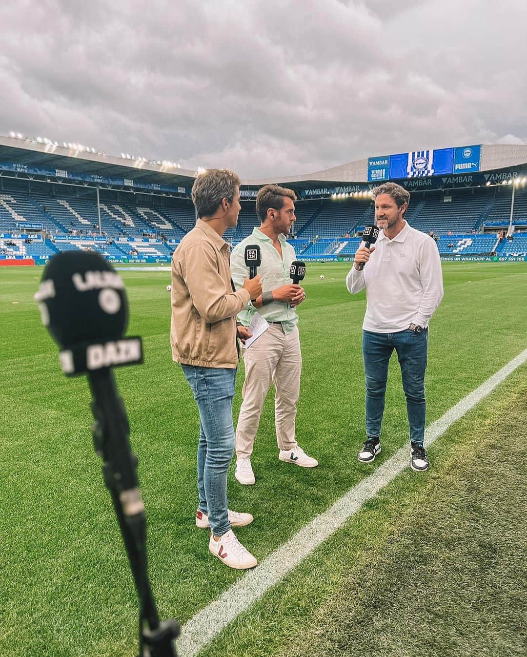
[[[442,254],[498,254],[527,252],[527,190],[515,190],[513,241],[498,244],[496,233],[507,229],[511,212],[511,185],[492,188],[414,192],[407,221],[425,233],[440,235]],[[445,200],[447,197],[447,201]],[[260,225],[254,200],[242,200],[238,225],[225,232],[236,244]],[[46,258],[57,251],[92,249],[116,260],[167,259],[181,238],[195,226],[195,209],[189,198],[137,196],[101,190],[101,228],[93,190],[67,185],[2,181],[0,189],[0,256]],[[350,255],[359,239],[353,235],[374,221],[370,198],[298,199],[290,243],[307,258]],[[26,224],[26,225],[25,225]],[[33,227],[31,226],[33,225]],[[39,226],[43,229],[40,237]],[[471,234],[472,229],[477,231]],[[485,231],[480,232],[482,229]],[[448,236],[451,231],[453,235]],[[38,237],[35,237],[35,233]],[[32,235],[30,243],[20,235]],[[346,237],[348,235],[348,237]]]

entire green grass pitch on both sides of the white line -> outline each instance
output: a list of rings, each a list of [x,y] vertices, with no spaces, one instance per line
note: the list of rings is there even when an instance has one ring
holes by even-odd
[[[260,561],[407,442],[394,358],[382,454],[370,466],[356,459],[365,296],[348,294],[349,267],[308,263],[299,308],[297,436],[320,466],[278,461],[269,396],[256,486],[229,472],[229,506],[255,516],[237,535]],[[132,657],[137,597],[91,443],[87,381],[60,372],[33,301],[41,271],[0,269],[0,654]],[[194,524],[198,415],[170,354],[170,272],[121,273],[128,333],[145,344],[145,365],[116,376],[139,457],[150,579],[160,616],[184,623],[242,574],[209,555]],[[444,284],[430,327],[427,424],[527,346],[523,263],[445,263]],[[434,443],[428,472],[401,473],[202,654],[524,654],[526,373]],[[241,366],[235,418],[242,379]]]

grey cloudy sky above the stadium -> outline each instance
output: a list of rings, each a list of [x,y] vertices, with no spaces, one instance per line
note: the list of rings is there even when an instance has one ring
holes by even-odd
[[[524,0],[2,0],[0,133],[319,171],[527,143]]]

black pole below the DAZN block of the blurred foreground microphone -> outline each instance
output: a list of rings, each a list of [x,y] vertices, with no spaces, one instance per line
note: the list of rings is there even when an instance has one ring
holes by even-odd
[[[110,491],[130,568],[139,596],[139,657],[177,657],[173,639],[179,623],[162,623],[147,573],[147,523],[139,490],[137,457],[128,441],[129,424],[114,373],[108,367],[88,374],[93,397],[91,431],[95,451],[103,458],[104,484]]]

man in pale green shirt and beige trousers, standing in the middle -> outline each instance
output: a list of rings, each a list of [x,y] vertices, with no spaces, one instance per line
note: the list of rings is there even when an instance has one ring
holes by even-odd
[[[235,477],[240,484],[254,484],[250,457],[271,382],[276,389],[278,458],[304,468],[315,468],[318,465],[318,461],[298,447],[294,432],[302,371],[296,306],[306,298],[304,288],[292,284],[289,277],[289,269],[296,255],[286,239],[296,218],[295,200],[296,194],[291,189],[278,185],[262,187],[256,197],[256,214],[261,222],[260,227],[254,228],[252,235],[237,244],[231,256],[233,281],[239,289],[248,275],[244,261],[245,248],[249,244],[260,245],[262,265],[258,273],[262,276],[264,292],[251,307],[239,313],[238,319],[244,326],[250,325],[258,308],[260,315],[269,322],[269,328],[250,349],[242,348],[245,381],[236,428],[235,468]]]

